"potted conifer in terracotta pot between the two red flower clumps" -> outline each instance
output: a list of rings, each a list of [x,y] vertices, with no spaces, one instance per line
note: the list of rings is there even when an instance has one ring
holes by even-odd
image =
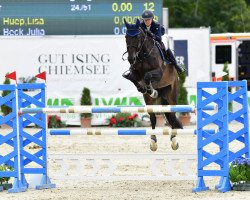
[[[86,87],[84,87],[82,90],[80,104],[82,106],[92,105],[90,90]],[[81,113],[81,127],[85,128],[91,127],[91,116],[92,116],[91,113]]]

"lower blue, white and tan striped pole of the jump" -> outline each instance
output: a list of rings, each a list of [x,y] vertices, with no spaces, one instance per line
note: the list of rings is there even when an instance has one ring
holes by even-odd
[[[51,129],[50,135],[172,135],[195,134],[195,129]]]

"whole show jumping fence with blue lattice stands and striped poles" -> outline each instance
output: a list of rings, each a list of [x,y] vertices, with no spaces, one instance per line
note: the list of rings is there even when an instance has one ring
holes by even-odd
[[[228,88],[234,88],[235,92],[231,93],[228,91]],[[229,163],[238,157],[249,157],[249,135],[248,135],[248,105],[247,105],[247,89],[246,89],[246,81],[238,81],[238,82],[209,82],[209,83],[197,83],[197,131],[192,130],[192,132],[197,133],[197,145],[198,145],[198,180],[197,186],[193,189],[193,191],[202,191],[207,190],[204,182],[205,176],[220,176],[221,180],[217,185],[217,189],[221,192],[226,192],[231,189],[229,182]],[[5,97],[0,97],[0,105],[7,105],[12,108],[12,112],[7,116],[0,116],[0,125],[7,124],[11,127],[11,132],[7,134],[0,134],[0,145],[7,145],[12,148],[10,152],[6,155],[0,155],[0,165],[8,164],[14,168],[13,172],[0,172],[0,177],[14,177],[13,188],[9,190],[9,192],[20,192],[25,191],[28,187],[28,183],[26,181],[26,174],[41,174],[42,180],[41,184],[37,185],[37,189],[45,189],[45,188],[53,188],[55,184],[50,182],[48,177],[48,169],[47,169],[47,141],[46,141],[46,132],[47,132],[47,123],[46,123],[46,115],[44,112],[79,112],[79,109],[71,110],[68,108],[46,108],[45,102],[45,84],[19,84],[19,85],[1,85],[0,90],[10,90],[11,93]],[[29,95],[26,90],[35,90],[36,93],[33,93],[33,96]],[[236,112],[231,112],[228,110],[228,103],[236,102],[241,106],[241,108]],[[216,112],[207,111],[208,107],[211,110],[211,105],[213,108],[217,108]],[[28,106],[32,106],[35,108],[27,108]],[[128,107],[126,107],[128,108]],[[59,109],[59,110],[58,110]],[[61,110],[63,109],[63,110]],[[80,108],[81,110],[82,108]],[[159,107],[150,108],[149,107],[141,107],[129,108],[131,110],[140,110],[142,112],[161,112]],[[163,109],[163,108],[162,108]],[[165,109],[165,110],[164,110]],[[193,111],[192,107],[180,108],[179,106],[169,106],[164,108],[163,110],[167,112],[167,110],[171,111],[181,111],[186,112],[187,109]],[[115,108],[115,109],[107,109],[107,108],[84,108],[88,112],[125,112],[125,107]],[[98,111],[99,110],[99,111]],[[184,111],[185,110],[185,111]],[[135,111],[135,112],[137,112]],[[140,112],[139,111],[139,112]],[[29,113],[31,112],[31,113]],[[134,111],[133,111],[134,112]],[[241,124],[242,128],[237,131],[233,131],[229,127],[230,122],[237,122]],[[217,130],[211,131],[208,130],[208,124],[215,124],[217,126]],[[36,133],[29,133],[25,127],[30,124],[35,124],[39,129],[37,129]],[[174,131],[174,132],[173,132]],[[171,130],[171,129],[162,129],[159,131],[161,134],[177,134],[180,130]],[[107,134],[105,131],[100,129],[88,131],[82,131],[83,134]],[[53,130],[52,134],[59,134],[59,130]],[[71,134],[70,131],[64,131],[64,134]],[[154,132],[139,130],[132,130],[131,132],[127,131],[123,132],[124,135],[133,133],[135,134],[152,134]],[[73,132],[72,132],[73,134]],[[79,134],[79,132],[78,132]],[[112,134],[122,134],[121,131],[117,130],[112,132]],[[229,144],[237,141],[241,143],[241,148],[235,150],[231,150]],[[29,151],[26,147],[27,145],[34,143],[41,147],[41,149],[37,150],[35,153]],[[207,150],[207,147],[210,145],[216,145],[218,148],[217,152]],[[1,146],[0,146],[1,147]],[[90,155],[89,155],[90,156]],[[80,158],[83,158],[88,161],[92,161],[95,163],[95,160],[99,158],[94,155],[92,158],[87,155],[81,155]],[[148,156],[148,155],[147,155]],[[149,158],[155,156],[153,154]],[[159,155],[163,156],[163,155]],[[73,157],[74,162],[79,161],[79,157]],[[115,157],[115,156],[114,156]],[[121,156],[122,157],[122,156]],[[132,156],[133,157],[133,156]],[[176,159],[178,156],[176,155]],[[52,156],[53,158],[53,156]],[[67,171],[68,167],[64,165],[63,159],[54,156],[54,159],[61,163],[62,171]],[[105,159],[106,158],[106,159]],[[118,158],[118,157],[117,157]],[[155,175],[162,176],[164,173],[160,173],[155,169],[154,166],[157,166],[155,163],[159,163],[159,160],[162,161],[164,157],[155,157],[156,162],[154,161],[151,165],[153,177]],[[108,163],[108,172],[106,175],[112,175],[113,169],[115,169],[115,165],[110,161],[110,157],[105,157],[102,161],[107,161]],[[173,159],[171,159],[173,160]],[[189,161],[193,161],[193,157],[189,158]],[[71,159],[72,161],[72,159]],[[77,163],[79,163],[77,161]],[[188,162],[189,162],[188,161]],[[31,165],[32,164],[32,165]],[[218,168],[210,169],[211,165],[216,165]],[[84,166],[80,164],[76,164],[76,167],[79,169],[84,168]],[[93,164],[93,172],[90,174],[96,174],[100,169],[98,164]],[[164,175],[163,175],[164,176]],[[63,178],[62,176],[61,178]],[[79,176],[77,176],[79,178]],[[86,176],[85,176],[86,177]],[[87,176],[88,177],[88,176]],[[108,177],[108,176],[105,176]],[[68,179],[69,177],[65,177]],[[125,177],[124,177],[125,178]],[[115,179],[115,178],[114,178]],[[126,178],[125,178],[126,179]]]

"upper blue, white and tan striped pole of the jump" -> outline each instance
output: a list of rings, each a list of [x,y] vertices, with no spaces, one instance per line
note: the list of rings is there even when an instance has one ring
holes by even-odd
[[[207,105],[204,110],[216,110],[215,105]],[[148,106],[68,106],[47,108],[21,108],[20,113],[169,113],[194,112],[192,105],[148,105]]]

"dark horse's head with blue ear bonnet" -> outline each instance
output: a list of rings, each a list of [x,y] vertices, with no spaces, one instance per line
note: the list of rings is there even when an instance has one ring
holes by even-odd
[[[128,24],[124,19],[127,28],[126,43],[128,51],[128,61],[132,65],[136,62],[136,57],[141,51],[145,33],[140,28],[140,21],[137,19],[135,24]]]

